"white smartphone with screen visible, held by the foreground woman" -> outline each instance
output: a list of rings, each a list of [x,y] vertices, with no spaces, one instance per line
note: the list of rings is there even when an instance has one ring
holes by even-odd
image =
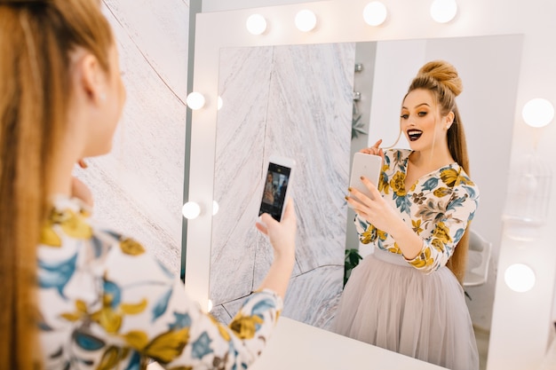
[[[290,158],[275,155],[270,157],[264,177],[263,196],[258,216],[268,213],[276,221],[282,221],[295,164],[296,162]]]

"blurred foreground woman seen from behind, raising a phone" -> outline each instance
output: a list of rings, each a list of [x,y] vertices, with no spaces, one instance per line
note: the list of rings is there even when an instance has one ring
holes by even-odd
[[[110,151],[125,100],[99,1],[0,0],[0,55],[0,368],[249,366],[290,279],[292,202],[282,223],[263,215],[274,262],[230,327],[218,324],[138,241],[91,224],[71,175]]]

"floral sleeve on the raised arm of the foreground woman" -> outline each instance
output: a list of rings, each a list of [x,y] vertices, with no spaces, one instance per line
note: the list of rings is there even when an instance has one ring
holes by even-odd
[[[112,248],[102,280],[103,335],[169,368],[247,367],[282,310],[278,295],[260,291],[229,326],[220,324],[187,297],[179,278],[129,239]]]

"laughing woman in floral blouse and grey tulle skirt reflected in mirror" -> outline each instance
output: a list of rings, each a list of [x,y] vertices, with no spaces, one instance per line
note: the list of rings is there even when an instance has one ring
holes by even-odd
[[[450,369],[479,368],[472,320],[461,286],[468,226],[479,189],[468,157],[456,97],[457,70],[426,63],[401,106],[411,150],[375,146],[383,157],[370,198],[350,189],[361,242],[372,243],[347,282],[333,330]]]

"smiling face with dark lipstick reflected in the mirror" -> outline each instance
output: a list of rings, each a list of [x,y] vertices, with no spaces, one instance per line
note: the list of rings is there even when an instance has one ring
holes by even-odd
[[[400,127],[411,150],[421,152],[447,145],[449,116],[441,116],[433,93],[417,89],[409,92],[401,105]],[[448,126],[448,127],[447,127]]]

